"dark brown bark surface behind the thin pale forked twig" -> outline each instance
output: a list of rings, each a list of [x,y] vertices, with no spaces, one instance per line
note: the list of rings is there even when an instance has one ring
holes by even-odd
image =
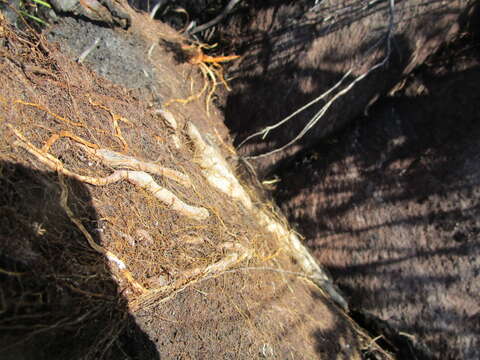
[[[230,69],[235,81],[226,104],[227,125],[240,142],[316,98],[352,69],[348,84],[386,57],[390,27],[391,53],[386,65],[339,98],[301,141],[256,161],[261,173],[278,167],[280,160],[362,114],[376,97],[458,34],[470,3],[397,0],[391,27],[389,1],[243,2],[222,35],[243,56]],[[271,131],[266,139],[249,141],[243,153],[264,153],[288,143],[323,104]]]

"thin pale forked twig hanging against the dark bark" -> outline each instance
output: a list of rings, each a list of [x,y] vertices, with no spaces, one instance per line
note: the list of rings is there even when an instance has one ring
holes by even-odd
[[[312,129],[317,123],[318,121],[325,115],[325,113],[327,112],[327,110],[342,96],[344,96],[345,94],[347,94],[356,84],[358,84],[360,81],[362,81],[363,79],[365,79],[368,75],[370,75],[372,72],[374,72],[375,70],[385,66],[385,64],[388,62],[389,58],[390,58],[390,55],[391,55],[391,52],[392,52],[392,48],[391,48],[391,42],[392,42],[392,34],[393,34],[393,31],[394,31],[394,28],[395,28],[395,0],[389,0],[389,10],[390,10],[390,22],[389,22],[389,26],[388,26],[388,30],[387,30],[387,35],[386,35],[386,40],[387,40],[387,53],[385,55],[385,57],[382,59],[382,61],[380,61],[379,63],[375,64],[374,66],[372,66],[369,70],[367,70],[366,72],[364,72],[362,75],[360,75],[359,77],[357,77],[355,80],[353,80],[347,87],[345,87],[343,90],[339,91],[337,94],[335,94],[335,96],[333,96],[325,105],[322,106],[322,108],[313,116],[312,119],[310,119],[310,121],[307,123],[307,125],[302,129],[302,131],[300,131],[300,133],[291,141],[289,141],[287,144],[277,148],[277,149],[274,149],[272,151],[269,151],[269,152],[266,152],[266,153],[263,153],[263,154],[259,154],[259,155],[253,155],[253,156],[246,156],[245,159],[258,159],[258,158],[262,158],[262,157],[266,157],[266,156],[270,156],[270,155],[273,155],[275,153],[278,153],[280,151],[283,151],[285,150],[286,148],[290,147],[291,145],[293,145],[294,143],[296,143],[297,141],[299,141],[301,138],[303,138],[305,136],[305,134],[310,131],[310,129]],[[349,70],[349,72],[347,72],[347,74],[349,74],[351,72],[351,70]],[[345,78],[345,76],[344,76]],[[343,79],[342,78],[340,80],[339,83],[337,83],[334,88],[337,87],[337,85],[340,85],[342,82],[343,82]],[[329,89],[327,92],[331,92],[332,88]],[[322,94],[320,97],[325,97],[324,94]],[[303,106],[302,108],[300,108],[299,110],[295,111],[294,114],[297,115],[298,113],[300,113],[301,111],[305,110],[307,107],[311,106],[310,104],[312,103],[315,103],[316,102],[316,99],[313,100],[312,102],[310,102],[309,104]],[[313,105],[313,104],[312,104]],[[295,115],[290,115],[288,116],[286,119],[291,119],[293,116]],[[275,124],[273,126],[269,126],[253,135],[250,135],[247,139],[250,140],[251,138],[253,137],[256,137],[256,136],[259,136],[259,135],[263,135],[263,138],[265,138],[265,136],[268,134],[268,132],[272,129],[275,129],[277,128],[278,126],[284,124],[286,121],[288,120],[285,120],[283,119],[282,121],[280,121],[278,124]],[[243,145],[246,141],[248,141],[247,139],[245,139],[240,145]]]

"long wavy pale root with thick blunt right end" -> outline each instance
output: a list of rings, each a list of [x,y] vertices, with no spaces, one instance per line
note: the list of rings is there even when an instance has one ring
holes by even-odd
[[[50,154],[43,153],[40,149],[36,148],[32,143],[30,143],[23,135],[21,135],[18,130],[14,129],[13,126],[11,126],[10,124],[8,124],[8,126],[10,127],[10,129],[12,129],[17,138],[20,139],[19,141],[15,142],[15,145],[18,145],[27,150],[43,164],[49,166],[52,170],[60,171],[66,176],[95,186],[105,186],[121,180],[126,180],[152,193],[153,196],[155,196],[158,200],[167,205],[169,209],[172,209],[183,216],[192,218],[197,221],[205,220],[207,217],[210,216],[207,209],[203,207],[191,206],[184,203],[172,192],[159,186],[154,181],[151,175],[143,171],[116,170],[106,177],[94,177],[79,175],[68,169],[65,169],[63,167],[63,164],[58,159],[51,156]]]

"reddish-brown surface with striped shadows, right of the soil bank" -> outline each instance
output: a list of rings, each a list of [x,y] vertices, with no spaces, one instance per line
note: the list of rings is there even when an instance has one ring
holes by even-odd
[[[412,340],[406,358],[480,357],[478,49],[445,47],[278,173],[290,221],[357,309]]]

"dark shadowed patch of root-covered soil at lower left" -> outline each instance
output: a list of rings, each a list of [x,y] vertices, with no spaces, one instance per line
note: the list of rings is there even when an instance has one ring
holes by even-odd
[[[108,261],[85,247],[60,206],[57,174],[3,160],[0,171],[2,359],[159,359]],[[98,222],[88,189],[66,181],[69,206]]]

